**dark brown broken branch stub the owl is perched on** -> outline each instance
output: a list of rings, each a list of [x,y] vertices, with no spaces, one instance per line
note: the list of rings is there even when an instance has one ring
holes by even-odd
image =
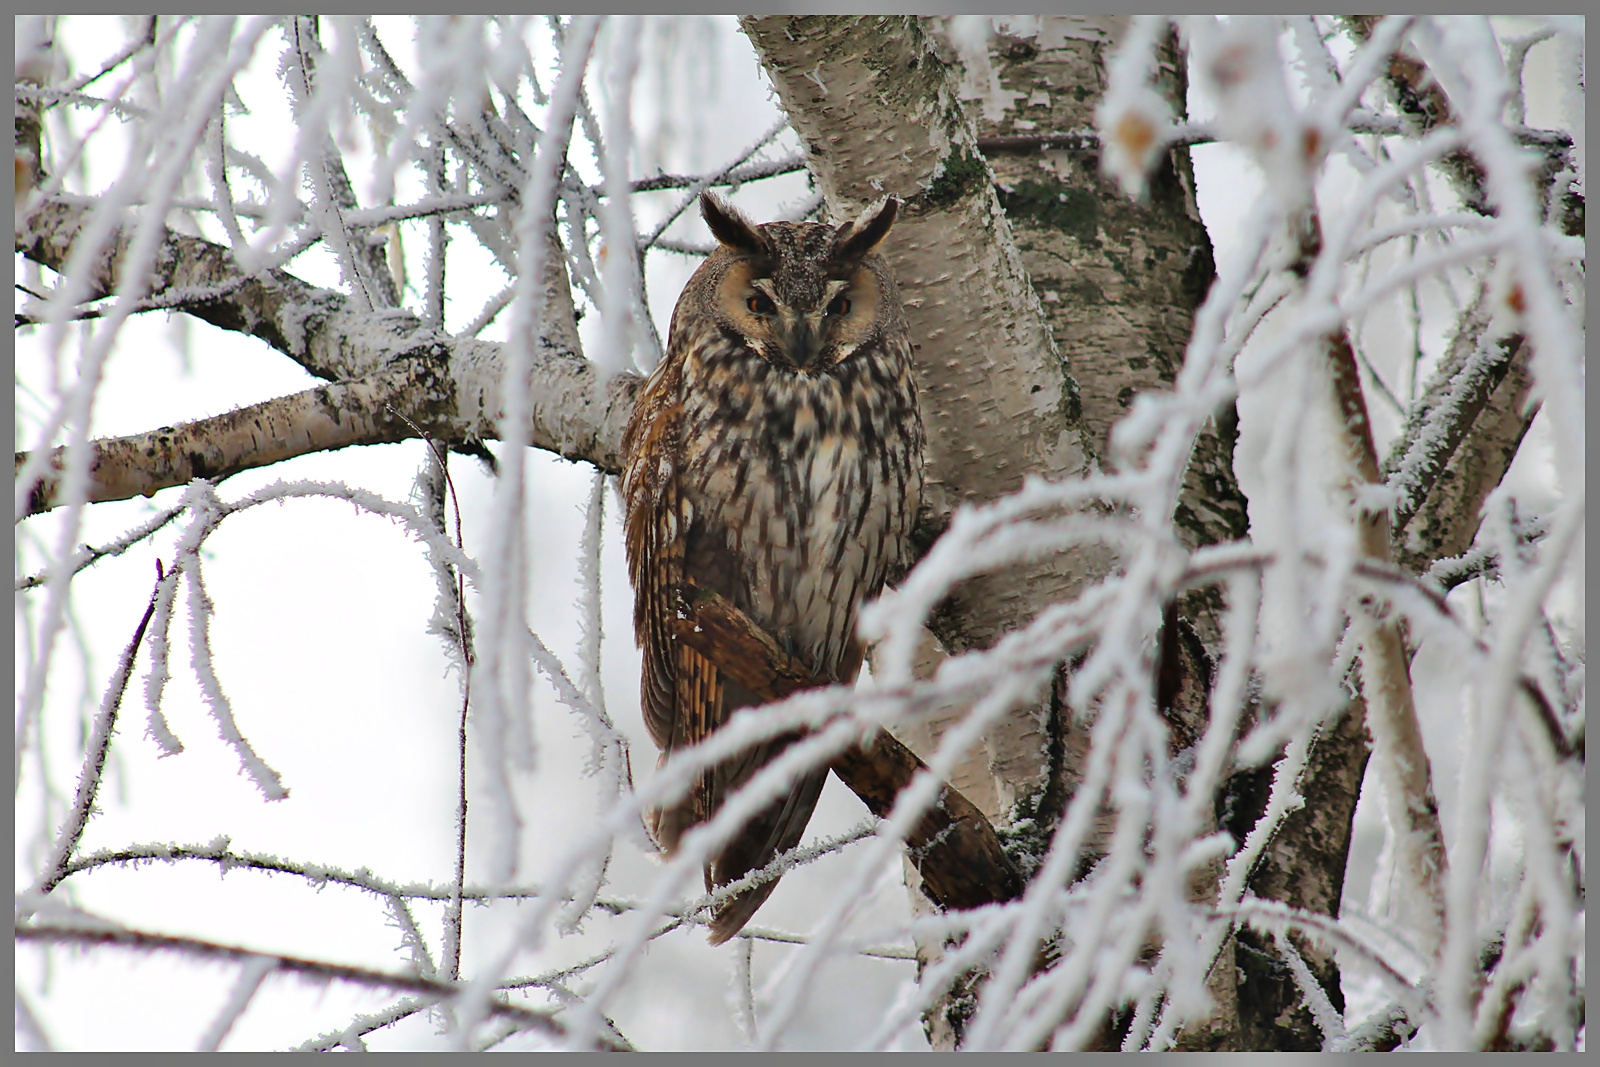
[[[824,685],[747,614],[714,592],[686,590],[672,633],[762,699],[779,701]],[[886,817],[901,790],[926,769],[910,749],[885,731],[834,760],[834,774],[878,817]],[[981,907],[1022,894],[1022,878],[989,819],[947,784],[906,837],[906,845],[922,875],[923,893],[941,909]]]

